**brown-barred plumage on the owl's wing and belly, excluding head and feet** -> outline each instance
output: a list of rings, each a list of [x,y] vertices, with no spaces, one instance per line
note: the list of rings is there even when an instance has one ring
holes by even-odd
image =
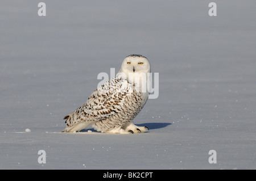
[[[67,127],[63,132],[71,131],[82,122],[92,123],[92,127],[100,132],[122,128],[138,115],[147,102],[148,93],[135,90],[135,83],[127,79],[109,79],[92,92],[84,105],[64,117]]]

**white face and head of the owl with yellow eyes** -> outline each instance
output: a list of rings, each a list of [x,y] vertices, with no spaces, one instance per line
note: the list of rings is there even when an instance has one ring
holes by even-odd
[[[150,73],[150,62],[146,57],[139,54],[131,54],[123,60],[121,73]]]

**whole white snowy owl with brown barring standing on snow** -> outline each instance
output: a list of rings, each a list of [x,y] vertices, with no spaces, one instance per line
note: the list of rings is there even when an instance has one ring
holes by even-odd
[[[132,123],[148,99],[150,62],[140,54],[131,54],[122,62],[115,77],[92,92],[84,105],[64,117],[63,132],[80,131],[91,125],[102,133],[143,133],[147,127]]]

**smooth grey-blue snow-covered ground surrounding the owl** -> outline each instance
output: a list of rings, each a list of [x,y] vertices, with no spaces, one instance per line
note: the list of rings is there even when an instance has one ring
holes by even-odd
[[[0,169],[256,169],[254,0],[43,2],[1,2]],[[133,53],[159,73],[150,131],[60,133]]]

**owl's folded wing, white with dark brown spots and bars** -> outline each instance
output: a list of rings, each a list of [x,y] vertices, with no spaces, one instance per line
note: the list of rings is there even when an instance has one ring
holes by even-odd
[[[80,122],[92,123],[104,120],[123,111],[122,105],[127,95],[132,92],[133,85],[126,79],[109,79],[92,92],[84,105],[64,117],[67,128],[63,132],[69,132]]]

